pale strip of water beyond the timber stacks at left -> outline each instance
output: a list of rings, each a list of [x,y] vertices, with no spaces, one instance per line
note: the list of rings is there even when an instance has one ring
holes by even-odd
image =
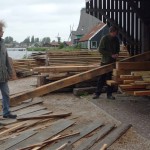
[[[33,51],[27,51],[26,48],[7,48],[9,57],[12,59],[27,58]]]

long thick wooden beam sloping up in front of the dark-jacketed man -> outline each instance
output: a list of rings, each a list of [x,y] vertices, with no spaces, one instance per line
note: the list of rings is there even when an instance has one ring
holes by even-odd
[[[133,57],[129,57],[127,59],[121,60],[121,62],[136,62],[136,61],[149,61],[150,60],[150,52],[145,52],[143,54],[139,54]],[[116,64],[112,63],[109,65],[104,65],[104,66],[100,66],[98,68],[94,68],[46,85],[43,85],[41,87],[38,87],[34,90],[30,90],[27,91],[25,93],[20,93],[18,95],[14,95],[10,97],[10,102],[12,104],[18,104],[24,100],[27,99],[31,99],[34,97],[38,97],[44,94],[48,94],[50,92],[54,92],[57,91],[59,89],[62,89],[64,87],[68,87],[71,85],[75,85],[77,83],[81,83],[87,80],[91,80],[97,76],[103,75],[105,73],[111,72],[113,71],[113,69],[115,68]],[[120,78],[120,76],[117,76],[118,78]],[[116,76],[114,77],[114,79],[117,81]]]

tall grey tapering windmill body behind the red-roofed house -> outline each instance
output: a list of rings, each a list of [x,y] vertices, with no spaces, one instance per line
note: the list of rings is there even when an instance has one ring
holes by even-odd
[[[82,8],[80,21],[76,31],[71,32],[71,42],[76,45],[78,41],[87,34],[94,26],[100,23],[100,20],[86,13],[86,9]]]

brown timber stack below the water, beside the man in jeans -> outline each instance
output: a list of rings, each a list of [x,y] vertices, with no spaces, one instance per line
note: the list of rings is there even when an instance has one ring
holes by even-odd
[[[39,66],[35,59],[13,60],[13,67],[17,77],[27,77],[33,75],[33,68]]]

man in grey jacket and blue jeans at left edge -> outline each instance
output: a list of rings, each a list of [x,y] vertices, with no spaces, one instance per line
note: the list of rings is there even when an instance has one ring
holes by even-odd
[[[0,90],[2,93],[3,118],[15,119],[17,116],[11,114],[9,110],[8,79],[12,77],[12,68],[4,45],[4,40],[2,39],[4,27],[5,24],[3,21],[0,21]]]

